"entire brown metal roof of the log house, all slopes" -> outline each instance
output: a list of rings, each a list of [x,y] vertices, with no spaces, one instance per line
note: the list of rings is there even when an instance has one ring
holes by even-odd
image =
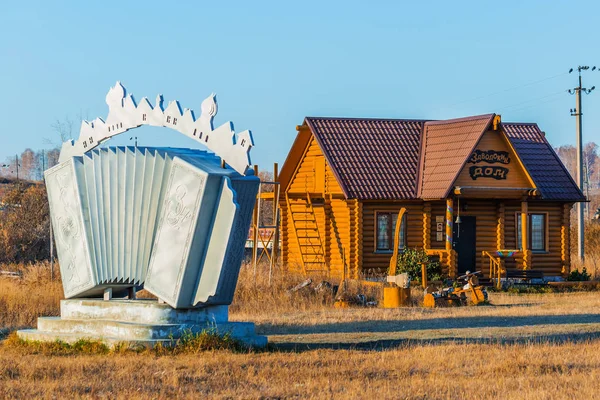
[[[445,121],[307,117],[305,123],[347,198],[407,200],[447,197],[493,118],[494,114]],[[585,200],[536,124],[501,126],[542,199]],[[293,147],[305,146],[307,134],[299,133]],[[281,171],[286,182],[301,152],[294,154],[290,152]]]

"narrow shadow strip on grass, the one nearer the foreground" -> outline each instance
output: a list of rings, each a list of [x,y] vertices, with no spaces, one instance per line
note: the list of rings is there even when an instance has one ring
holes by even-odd
[[[535,337],[501,338],[436,338],[436,339],[393,339],[373,340],[358,343],[270,343],[271,351],[303,352],[319,349],[382,351],[397,347],[439,346],[444,344],[487,344],[487,345],[523,345],[523,344],[566,344],[587,342],[600,339],[600,332],[540,335]]]

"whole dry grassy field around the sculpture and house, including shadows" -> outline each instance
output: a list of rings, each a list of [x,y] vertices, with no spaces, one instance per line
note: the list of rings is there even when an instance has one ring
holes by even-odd
[[[0,278],[0,328],[57,315],[47,267]],[[595,398],[600,294],[491,293],[491,306],[334,309],[244,270],[231,319],[269,336],[264,352],[47,355],[0,345],[2,398]],[[415,293],[417,296],[417,293]]]

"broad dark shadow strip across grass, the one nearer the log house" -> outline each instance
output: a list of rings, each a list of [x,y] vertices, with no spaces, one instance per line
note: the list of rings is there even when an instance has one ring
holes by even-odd
[[[476,316],[447,317],[423,320],[376,320],[332,322],[316,325],[261,324],[257,331],[263,335],[299,335],[319,333],[386,333],[427,329],[507,328],[535,325],[569,325],[600,323],[600,314]]]

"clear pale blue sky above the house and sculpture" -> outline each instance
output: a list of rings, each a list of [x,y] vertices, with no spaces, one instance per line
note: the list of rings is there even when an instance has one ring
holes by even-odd
[[[305,116],[443,119],[495,112],[575,143],[572,66],[600,66],[597,2],[28,2],[0,13],[0,160],[58,141],[54,121],[105,118],[120,80],[137,99],[251,129],[252,159],[283,163]],[[550,78],[550,79],[546,79]],[[541,80],[541,82],[539,82]],[[600,142],[599,87],[584,141]],[[166,104],[166,103],[165,103]],[[197,113],[198,114],[198,113]],[[79,135],[79,121],[74,138]],[[113,139],[194,147],[168,129]]]

